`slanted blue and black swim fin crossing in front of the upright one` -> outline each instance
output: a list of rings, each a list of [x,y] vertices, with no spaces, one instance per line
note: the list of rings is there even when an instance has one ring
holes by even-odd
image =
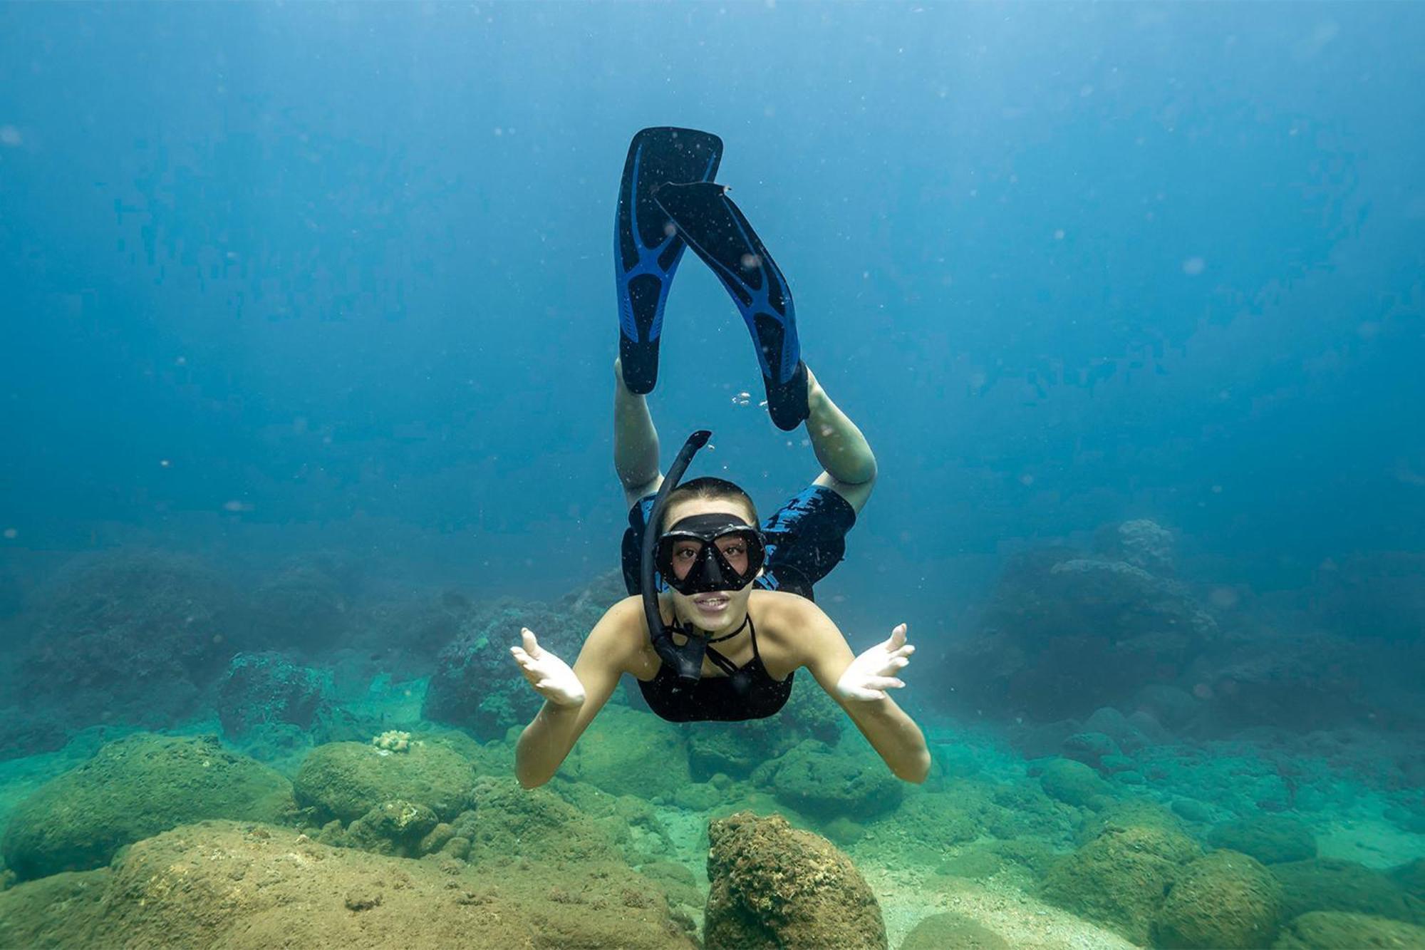
[[[807,364],[801,361],[787,278],[724,185],[670,181],[654,197],[693,252],[732,295],[757,344],[767,411],[777,428],[795,429],[808,415]]]

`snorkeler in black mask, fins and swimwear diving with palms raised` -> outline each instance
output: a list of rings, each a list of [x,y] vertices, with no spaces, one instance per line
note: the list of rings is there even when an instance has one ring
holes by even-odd
[[[646,128],[628,147],[614,244],[614,468],[630,506],[623,572],[631,596],[594,625],[573,669],[527,629],[510,648],[544,698],[516,747],[524,787],[554,775],[623,673],[664,719],[744,720],[777,713],[802,666],[898,777],[923,782],[929,772],[925,737],[888,695],[905,686],[896,673],[915,650],[905,625],[855,656],[812,602],[812,585],[845,553],[876,462],[801,359],[785,278],[727,190],[712,184],[721,151],[717,136],[688,128]],[[687,247],[718,275],[752,334],[772,421],[782,429],[805,422],[824,469],[761,526],[735,484],[681,482],[708,432],[688,438],[667,478],[658,471],[644,397],[657,382],[663,308]]]

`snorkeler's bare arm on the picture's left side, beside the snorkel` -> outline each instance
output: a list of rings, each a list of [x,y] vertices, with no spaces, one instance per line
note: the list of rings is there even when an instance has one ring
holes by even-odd
[[[514,777],[526,789],[544,785],[554,776],[584,729],[608,702],[637,645],[636,635],[641,630],[637,598],[620,601],[590,630],[574,660],[584,700],[570,706],[546,700],[520,733],[514,746]]]

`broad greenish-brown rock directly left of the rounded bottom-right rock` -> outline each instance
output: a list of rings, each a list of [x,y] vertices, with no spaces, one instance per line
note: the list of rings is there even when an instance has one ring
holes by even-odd
[[[1201,856],[1203,849],[1177,832],[1110,826],[1049,870],[1043,897],[1147,944],[1163,896],[1183,866]]]

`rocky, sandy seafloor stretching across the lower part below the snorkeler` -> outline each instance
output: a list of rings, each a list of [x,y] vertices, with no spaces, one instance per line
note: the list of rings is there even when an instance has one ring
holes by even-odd
[[[1181,585],[1097,563],[1052,569],[1094,578],[1086,603],[1140,596],[1120,630],[1186,616],[1164,606]],[[114,555],[16,615],[54,639],[13,668],[71,699],[21,706],[7,686],[0,946],[1425,947],[1412,727],[1213,726],[1208,710],[1241,715],[1241,672],[1230,706],[1164,682],[1036,722],[921,705],[935,769],[909,786],[802,676],[755,723],[675,726],[621,689],[523,790],[513,739],[533,703],[499,630],[563,622],[577,649],[608,582],[549,605],[376,609],[322,601],[336,588],[314,576],[268,585],[268,612],[238,622],[192,563]],[[281,596],[305,612],[274,630]],[[1194,620],[1193,675],[1217,690],[1221,619]],[[1036,622],[995,628],[1029,682]],[[261,649],[214,660],[219,626]]]

